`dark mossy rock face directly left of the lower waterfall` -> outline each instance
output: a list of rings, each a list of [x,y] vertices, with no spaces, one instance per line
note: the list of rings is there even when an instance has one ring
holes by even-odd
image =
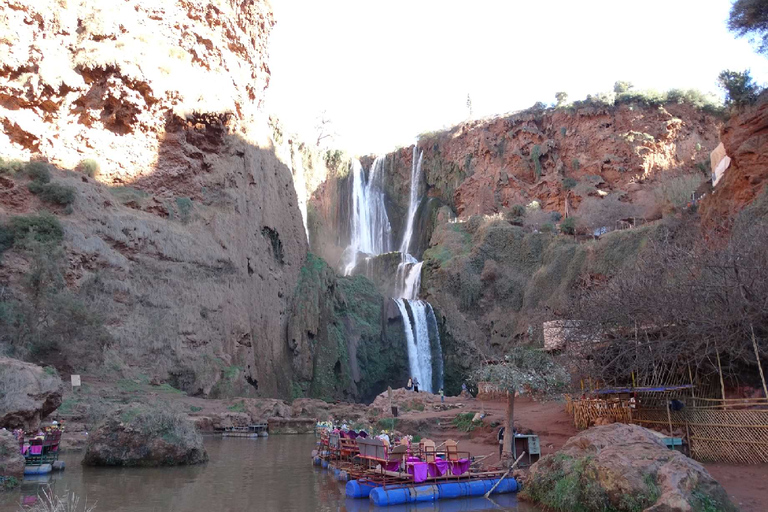
[[[370,401],[407,379],[402,319],[363,276],[339,277],[310,254],[291,309],[296,396]]]

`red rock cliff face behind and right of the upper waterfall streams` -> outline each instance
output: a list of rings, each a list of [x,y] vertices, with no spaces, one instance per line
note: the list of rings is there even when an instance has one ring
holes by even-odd
[[[543,210],[578,215],[588,197],[615,195],[653,211],[654,188],[673,175],[708,176],[709,153],[718,144],[719,117],[689,103],[626,103],[529,109],[490,120],[469,121],[424,134],[421,204],[415,255],[429,247],[443,205],[454,215],[492,215],[537,201]],[[362,158],[365,168],[372,158]],[[413,147],[386,155],[384,191],[393,238],[399,244],[408,211]],[[348,242],[349,209],[333,209],[349,196],[350,176],[329,174],[310,199],[318,224],[341,236],[323,237],[313,250],[337,263]],[[329,242],[338,244],[330,247]],[[330,243],[333,245],[333,243]]]

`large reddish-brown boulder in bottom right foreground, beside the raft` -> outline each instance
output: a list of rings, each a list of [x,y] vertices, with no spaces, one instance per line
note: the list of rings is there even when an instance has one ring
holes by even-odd
[[[531,467],[526,496],[558,511],[736,511],[698,462],[636,425],[594,427]],[[578,508],[577,508],[578,507]]]

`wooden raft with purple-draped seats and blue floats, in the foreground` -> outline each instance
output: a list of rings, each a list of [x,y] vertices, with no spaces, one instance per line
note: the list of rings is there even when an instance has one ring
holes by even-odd
[[[383,439],[326,431],[312,458],[347,481],[348,498],[368,498],[377,506],[517,492],[517,481],[504,469],[475,467],[471,454],[460,452],[454,441],[440,446],[445,449],[438,451],[429,439],[416,444],[404,437],[390,447]]]

